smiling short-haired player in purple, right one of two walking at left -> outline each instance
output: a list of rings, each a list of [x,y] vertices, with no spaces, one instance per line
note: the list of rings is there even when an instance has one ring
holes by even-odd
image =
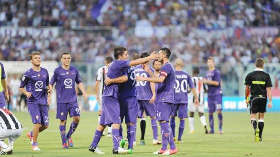
[[[53,85],[56,83],[56,118],[60,120],[59,130],[62,140],[62,147],[69,148],[69,146],[74,146],[71,135],[77,129],[80,122],[80,108],[77,102],[75,82],[82,91],[85,102],[87,101],[87,96],[78,69],[70,65],[70,53],[63,52],[60,60],[62,62],[62,66],[56,68],[53,73],[53,77],[50,82],[50,91],[52,91]],[[66,134],[65,125],[68,112],[70,118],[73,117],[73,121],[70,125],[68,133]]]

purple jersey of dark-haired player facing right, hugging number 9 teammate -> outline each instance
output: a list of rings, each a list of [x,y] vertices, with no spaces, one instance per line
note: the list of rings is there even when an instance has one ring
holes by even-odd
[[[108,67],[106,72],[107,78],[118,78],[123,75],[123,69],[129,67],[130,61],[128,60],[114,60]],[[118,83],[104,85],[104,92],[102,97],[118,97]]]

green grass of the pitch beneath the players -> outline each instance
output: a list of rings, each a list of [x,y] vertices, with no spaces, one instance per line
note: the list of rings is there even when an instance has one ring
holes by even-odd
[[[22,122],[24,132],[14,144],[13,157],[95,157],[112,156],[112,139],[102,137],[99,148],[106,155],[97,155],[88,151],[95,128],[97,127],[97,112],[82,112],[81,123],[72,135],[74,148],[62,149],[59,133],[59,121],[55,119],[55,112],[50,112],[50,127],[39,134],[38,143],[41,151],[32,152],[29,139],[26,134],[32,129],[32,123],[28,113],[14,112]],[[206,113],[206,117],[208,114]],[[178,157],[280,157],[280,126],[279,113],[265,115],[265,128],[263,142],[254,142],[253,130],[250,125],[249,114],[245,112],[224,112],[224,134],[217,134],[218,123],[215,115],[215,134],[204,134],[200,121],[196,114],[195,134],[188,134],[189,124],[186,120],[186,129],[183,134],[183,144],[176,144]],[[207,118],[208,121],[208,118]],[[67,131],[71,119],[68,121]],[[176,119],[176,134],[178,133],[178,119]],[[125,127],[124,127],[125,128]],[[124,129],[125,132],[126,129]],[[160,129],[159,129],[160,130]],[[107,131],[107,129],[106,129]],[[126,135],[126,133],[124,133]],[[137,130],[137,142],[140,139],[140,124]],[[5,140],[6,142],[7,140]],[[150,120],[147,118],[145,146],[134,147],[133,155],[121,155],[130,157],[148,157],[160,149],[160,146],[152,145],[152,131]]]

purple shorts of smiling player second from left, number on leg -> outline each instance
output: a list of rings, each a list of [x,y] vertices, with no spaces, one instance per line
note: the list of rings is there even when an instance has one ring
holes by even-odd
[[[80,108],[78,103],[57,103],[56,119],[66,120],[68,112],[70,118],[73,116],[80,117]]]

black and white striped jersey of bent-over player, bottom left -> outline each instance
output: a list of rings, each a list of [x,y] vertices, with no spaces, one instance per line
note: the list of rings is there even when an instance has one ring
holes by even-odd
[[[21,129],[22,124],[9,110],[0,108],[0,129],[15,130]]]

